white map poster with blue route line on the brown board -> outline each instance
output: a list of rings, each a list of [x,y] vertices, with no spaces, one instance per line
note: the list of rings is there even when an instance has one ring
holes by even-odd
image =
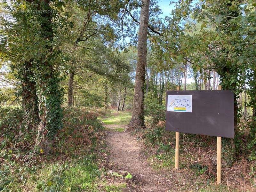
[[[192,95],[168,95],[167,111],[192,112]]]

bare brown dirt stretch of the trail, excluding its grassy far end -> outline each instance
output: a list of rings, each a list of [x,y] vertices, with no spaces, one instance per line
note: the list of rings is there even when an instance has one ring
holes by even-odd
[[[129,132],[107,132],[109,162],[115,162],[119,170],[130,172],[135,185],[128,191],[170,191],[170,180],[156,173],[143,154],[143,146]]]

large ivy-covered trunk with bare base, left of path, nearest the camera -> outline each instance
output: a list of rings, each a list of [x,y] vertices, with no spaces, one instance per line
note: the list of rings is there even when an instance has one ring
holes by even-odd
[[[36,145],[44,154],[48,154],[57,132],[62,128],[63,112],[61,103],[63,94],[59,87],[60,72],[56,67],[58,51],[53,49],[53,23],[54,13],[49,0],[40,2],[39,11],[42,10],[40,36],[44,41],[41,60],[38,60],[37,70],[37,95],[39,97],[39,118]],[[48,10],[47,12],[44,10]]]

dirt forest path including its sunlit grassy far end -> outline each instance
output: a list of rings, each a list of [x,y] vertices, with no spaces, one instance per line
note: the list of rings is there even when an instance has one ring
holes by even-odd
[[[125,191],[169,191],[170,180],[150,167],[143,152],[143,143],[138,142],[129,132],[120,130],[120,127],[124,129],[128,124],[131,114],[112,111],[111,115],[114,118],[113,122],[111,122],[111,117],[102,119],[108,130],[106,132],[106,142],[110,153],[108,162],[117,165],[118,170],[115,171],[123,170],[132,174],[133,182],[128,184]]]

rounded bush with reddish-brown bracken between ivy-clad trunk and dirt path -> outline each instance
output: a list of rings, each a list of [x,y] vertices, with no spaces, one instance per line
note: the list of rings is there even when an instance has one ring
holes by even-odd
[[[92,150],[99,140],[99,131],[103,129],[95,113],[88,112],[86,108],[65,108],[56,151],[60,147],[62,150],[75,150],[75,145]]]

